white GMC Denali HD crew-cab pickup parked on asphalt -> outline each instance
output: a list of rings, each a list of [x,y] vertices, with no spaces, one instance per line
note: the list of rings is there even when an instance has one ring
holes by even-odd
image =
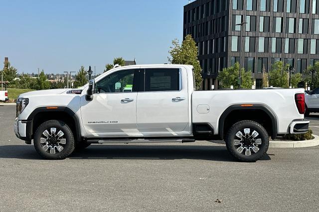
[[[304,89],[195,91],[192,66],[135,65],[81,89],[20,95],[14,132],[46,159],[92,143],[225,140],[234,158],[251,162],[269,137],[306,133],[304,112]]]

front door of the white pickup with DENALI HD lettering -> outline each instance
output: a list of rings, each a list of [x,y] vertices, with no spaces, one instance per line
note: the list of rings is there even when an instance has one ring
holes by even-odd
[[[92,101],[82,96],[81,116],[88,136],[129,136],[138,132],[138,72],[139,69],[114,72],[96,82]]]

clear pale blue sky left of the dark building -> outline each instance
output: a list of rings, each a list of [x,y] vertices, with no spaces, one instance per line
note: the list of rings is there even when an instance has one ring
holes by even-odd
[[[18,73],[102,73],[114,57],[167,63],[188,0],[0,0],[0,60]],[[2,62],[1,62],[2,63]],[[0,67],[2,68],[2,67]]]

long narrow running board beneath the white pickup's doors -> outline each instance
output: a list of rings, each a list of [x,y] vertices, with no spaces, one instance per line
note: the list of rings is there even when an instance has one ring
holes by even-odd
[[[120,144],[120,143],[189,143],[195,142],[195,139],[103,139],[103,140],[87,140],[88,143],[98,144]]]

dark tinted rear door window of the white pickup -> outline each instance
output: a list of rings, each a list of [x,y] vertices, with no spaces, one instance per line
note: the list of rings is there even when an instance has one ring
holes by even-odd
[[[179,91],[179,69],[145,69],[145,91]]]

